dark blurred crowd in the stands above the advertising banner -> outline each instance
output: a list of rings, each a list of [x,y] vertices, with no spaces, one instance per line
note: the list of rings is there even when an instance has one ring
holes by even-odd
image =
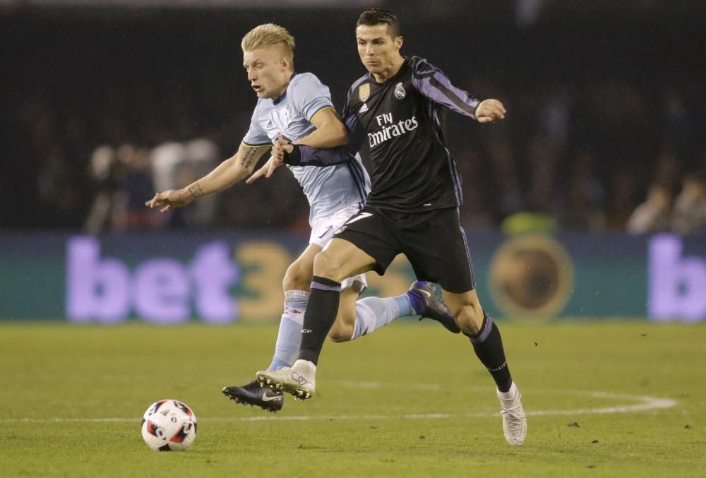
[[[239,42],[258,23],[292,31],[297,70],[316,73],[340,109],[364,73],[357,13],[321,24],[301,12],[3,20],[13,41],[0,54],[14,74],[0,85],[11,205],[1,227],[306,229],[306,199],[285,169],[167,215],[144,203],[237,150],[256,103]],[[696,65],[706,33],[698,18],[678,38],[659,15],[550,18],[532,28],[491,18],[476,20],[469,36],[460,22],[412,23],[397,13],[405,54],[425,56],[456,85],[508,109],[490,126],[446,116],[465,227],[498,229],[532,213],[570,231],[706,232],[706,93]]]

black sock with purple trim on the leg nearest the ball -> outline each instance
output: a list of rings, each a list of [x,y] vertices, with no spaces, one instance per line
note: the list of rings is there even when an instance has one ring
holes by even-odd
[[[304,325],[301,328],[299,359],[309,360],[314,365],[318,364],[323,342],[336,321],[340,295],[340,282],[313,276],[309,302],[304,312]]]

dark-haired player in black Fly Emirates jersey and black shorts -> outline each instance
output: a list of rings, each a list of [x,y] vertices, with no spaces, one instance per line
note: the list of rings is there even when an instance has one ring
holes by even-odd
[[[446,149],[441,121],[443,109],[487,123],[503,119],[505,108],[498,100],[475,100],[425,59],[402,56],[399,23],[390,11],[362,13],[356,35],[369,73],[353,83],[342,116],[349,149],[357,150],[363,141],[369,144],[372,189],[365,207],[314,260],[299,360],[288,369],[258,372],[258,381],[299,398],[313,396],[316,364],[335,321],[340,282],[368,270],[382,275],[397,253],[404,253],[419,280],[441,285],[462,333],[496,382],[505,438],[510,445],[521,445],[527,430],[521,395],[510,377],[500,331],[476,294],[459,223],[461,179]],[[297,148],[286,142],[273,151],[280,151],[280,157],[287,153],[287,162],[300,165],[345,160],[340,150]]]

